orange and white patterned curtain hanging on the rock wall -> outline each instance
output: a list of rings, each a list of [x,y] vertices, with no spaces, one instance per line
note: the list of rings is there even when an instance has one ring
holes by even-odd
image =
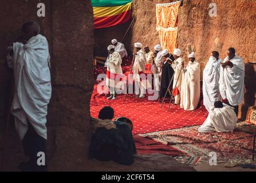
[[[182,1],[156,4],[156,30],[163,49],[174,51],[178,36],[178,15]]]

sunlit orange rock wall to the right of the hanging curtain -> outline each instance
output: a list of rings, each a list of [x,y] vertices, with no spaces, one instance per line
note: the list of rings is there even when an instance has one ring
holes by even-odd
[[[241,118],[245,120],[248,107],[255,103],[255,71],[248,62],[256,61],[256,1],[216,0],[217,17],[208,15],[211,2],[184,0],[179,12],[178,45],[185,56],[196,51],[202,69],[211,51],[219,51],[224,59],[229,47],[237,50],[246,63],[245,105],[241,110]]]

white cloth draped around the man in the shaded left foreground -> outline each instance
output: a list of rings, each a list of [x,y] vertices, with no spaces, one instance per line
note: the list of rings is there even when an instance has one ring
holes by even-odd
[[[14,55],[8,64],[14,69],[14,98],[11,113],[21,140],[28,126],[27,120],[41,137],[47,139],[46,115],[52,94],[49,69],[49,47],[40,34],[23,45],[14,43]]]

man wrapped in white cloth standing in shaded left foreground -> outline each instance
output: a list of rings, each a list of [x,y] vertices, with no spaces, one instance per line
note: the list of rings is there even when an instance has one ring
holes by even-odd
[[[26,43],[14,42],[7,55],[7,63],[14,69],[11,113],[25,155],[30,158],[29,162],[19,165],[23,171],[46,170],[46,165],[37,165],[37,153],[46,152],[46,115],[52,86],[48,42],[39,33],[37,22],[25,23],[22,26],[22,39]]]

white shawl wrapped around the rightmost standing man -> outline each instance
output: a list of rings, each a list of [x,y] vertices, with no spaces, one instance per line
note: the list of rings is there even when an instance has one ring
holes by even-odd
[[[223,62],[228,59],[229,57],[226,57]],[[230,62],[234,65],[232,68],[220,68],[219,90],[223,99],[227,99],[233,106],[238,106],[244,101],[245,63],[238,55],[230,59]]]

